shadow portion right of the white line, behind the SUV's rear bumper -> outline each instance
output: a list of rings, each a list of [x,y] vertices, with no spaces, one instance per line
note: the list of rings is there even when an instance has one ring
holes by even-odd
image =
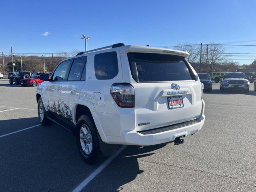
[[[138,160],[154,155],[163,145],[127,146],[83,191],[122,191],[125,184],[132,182],[144,170],[139,167]]]

